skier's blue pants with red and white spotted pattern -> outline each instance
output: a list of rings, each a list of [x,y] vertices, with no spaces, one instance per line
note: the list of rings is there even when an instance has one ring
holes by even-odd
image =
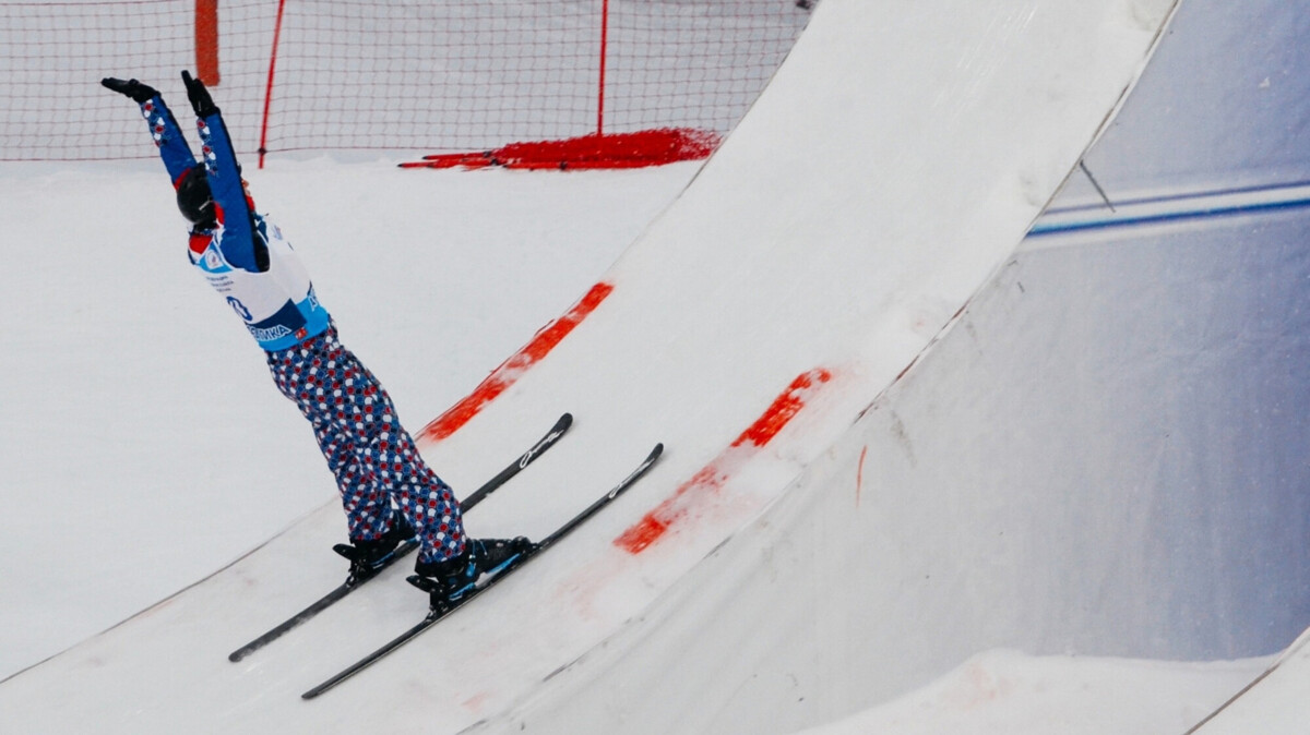
[[[421,562],[462,553],[455,493],[419,456],[390,396],[341,344],[335,327],[267,354],[278,390],[314,428],[337,477],[351,540],[380,538],[398,509],[422,541]]]

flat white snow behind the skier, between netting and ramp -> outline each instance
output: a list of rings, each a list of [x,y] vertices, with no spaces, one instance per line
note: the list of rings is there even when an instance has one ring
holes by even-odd
[[[394,162],[271,160],[246,178],[411,432],[567,310],[698,169]],[[187,263],[160,162],[5,163],[0,221],[4,677],[337,493],[263,353]]]

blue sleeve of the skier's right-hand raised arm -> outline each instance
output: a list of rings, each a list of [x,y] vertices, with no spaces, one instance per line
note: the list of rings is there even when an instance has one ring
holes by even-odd
[[[266,271],[267,251],[257,252],[266,246],[255,242],[253,203],[246,197],[245,186],[241,183],[241,166],[232,150],[232,139],[223,123],[223,112],[215,110],[199,118],[199,128],[210,194],[214,196],[219,222],[223,225],[223,237],[219,242],[223,258],[244,271]]]

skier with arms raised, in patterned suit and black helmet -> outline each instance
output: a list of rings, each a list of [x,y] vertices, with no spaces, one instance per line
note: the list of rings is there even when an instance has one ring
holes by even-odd
[[[347,583],[372,577],[417,536],[414,572],[448,600],[478,577],[532,549],[524,538],[469,539],[449,485],[419,456],[386,391],[346,349],[282,231],[254,209],[219,109],[200,80],[182,72],[204,160],[195,161],[160,93],[134,80],[101,84],[141,107],[177,205],[191,224],[189,255],[263,348],[272,379],[313,425],[337,479],[350,544]]]

